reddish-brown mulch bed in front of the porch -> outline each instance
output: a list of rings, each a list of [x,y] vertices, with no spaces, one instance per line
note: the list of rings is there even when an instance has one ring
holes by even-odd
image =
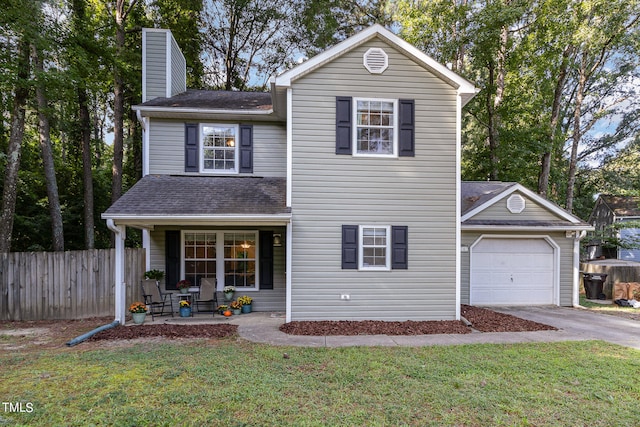
[[[89,338],[99,340],[130,340],[135,338],[225,338],[238,333],[238,325],[139,325],[118,326]]]

